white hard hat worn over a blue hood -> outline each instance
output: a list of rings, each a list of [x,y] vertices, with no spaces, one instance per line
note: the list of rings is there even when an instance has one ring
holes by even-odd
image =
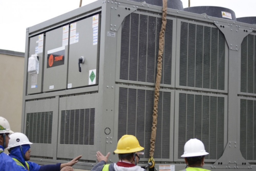
[[[10,140],[7,149],[12,147],[17,147],[24,144],[33,144],[28,140],[28,137],[20,132],[15,132],[11,135],[9,135]]]

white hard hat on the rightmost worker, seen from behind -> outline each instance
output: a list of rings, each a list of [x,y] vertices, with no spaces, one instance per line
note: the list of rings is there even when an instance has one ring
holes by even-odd
[[[184,154],[180,157],[195,157],[204,156],[207,154],[209,153],[205,151],[204,144],[200,140],[194,138],[186,142],[184,145]]]

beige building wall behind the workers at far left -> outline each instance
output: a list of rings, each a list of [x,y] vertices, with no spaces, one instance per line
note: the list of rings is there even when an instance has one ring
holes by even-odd
[[[0,116],[21,131],[24,53],[0,49]]]

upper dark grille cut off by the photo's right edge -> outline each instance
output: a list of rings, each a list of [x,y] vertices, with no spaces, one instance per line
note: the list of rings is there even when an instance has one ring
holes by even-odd
[[[256,39],[246,36],[241,44],[241,92],[256,93]]]

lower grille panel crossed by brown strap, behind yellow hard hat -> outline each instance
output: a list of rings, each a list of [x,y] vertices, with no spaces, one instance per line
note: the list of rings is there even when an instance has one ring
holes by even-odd
[[[154,89],[116,85],[115,142],[125,134],[137,137],[144,149],[140,162],[147,162],[150,152]],[[156,162],[173,161],[174,90],[159,92],[154,159]],[[112,150],[113,150],[112,149]]]

